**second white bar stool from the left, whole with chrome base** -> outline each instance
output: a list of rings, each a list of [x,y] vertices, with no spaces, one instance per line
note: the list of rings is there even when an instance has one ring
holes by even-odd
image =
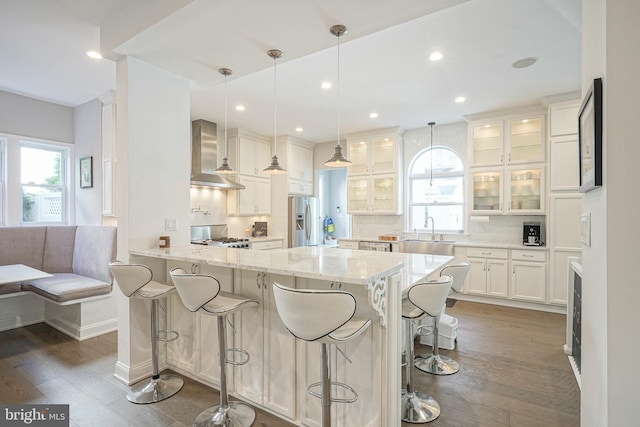
[[[220,404],[207,408],[193,421],[193,426],[249,427],[256,419],[256,411],[244,402],[229,402],[226,365],[249,362],[245,350],[227,348],[227,316],[243,308],[254,307],[258,301],[220,291],[220,282],[207,274],[190,274],[182,268],[169,272],[184,306],[192,312],[200,311],[218,318],[218,352],[220,364]],[[228,359],[227,353],[240,353],[242,361]]]

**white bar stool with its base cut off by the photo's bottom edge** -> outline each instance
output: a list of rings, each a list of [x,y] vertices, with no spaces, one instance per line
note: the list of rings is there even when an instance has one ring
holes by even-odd
[[[356,338],[369,327],[371,319],[353,318],[356,299],[346,291],[292,289],[274,283],[273,297],[282,323],[293,336],[304,341],[320,343],[321,381],[311,384],[307,392],[320,398],[321,425],[330,427],[331,403],[353,403],[358,400],[358,394],[347,384],[331,381],[329,346]],[[332,397],[331,386],[344,388],[353,396]],[[313,390],[316,387],[320,387],[319,392]]]

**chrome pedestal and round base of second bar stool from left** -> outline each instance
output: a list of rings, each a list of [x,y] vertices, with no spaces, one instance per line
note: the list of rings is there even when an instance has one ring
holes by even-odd
[[[227,316],[218,316],[218,345],[220,404],[202,411],[193,427],[249,427],[256,419],[255,410],[243,402],[229,402],[227,392]]]

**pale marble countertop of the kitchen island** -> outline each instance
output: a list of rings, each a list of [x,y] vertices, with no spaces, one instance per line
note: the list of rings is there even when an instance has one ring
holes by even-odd
[[[403,290],[437,272],[453,259],[441,255],[359,251],[325,246],[252,251],[188,245],[130,252],[131,255],[359,285],[373,283],[404,268]]]

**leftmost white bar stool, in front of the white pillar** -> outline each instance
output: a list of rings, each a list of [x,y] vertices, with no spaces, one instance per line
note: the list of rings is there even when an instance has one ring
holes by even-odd
[[[146,265],[112,261],[109,263],[109,270],[126,297],[151,300],[152,375],[150,379],[131,386],[127,393],[127,399],[133,403],[155,403],[171,397],[180,391],[184,380],[177,375],[159,374],[158,341],[174,341],[178,339],[178,333],[176,331],[160,331],[158,308],[160,307],[160,299],[174,292],[175,288],[152,280],[153,272]],[[165,337],[161,337],[161,333],[165,334]],[[169,334],[173,337],[167,338],[166,335]]]

